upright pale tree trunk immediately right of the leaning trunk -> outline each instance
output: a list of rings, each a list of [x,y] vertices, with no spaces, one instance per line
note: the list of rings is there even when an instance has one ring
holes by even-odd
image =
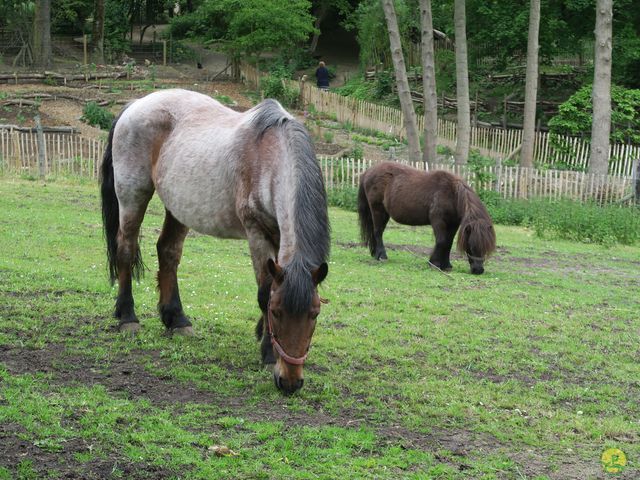
[[[422,25],[422,90],[424,99],[424,152],[422,160],[427,165],[432,165],[436,162],[436,147],[438,145],[438,96],[431,0],[420,0],[420,21]]]

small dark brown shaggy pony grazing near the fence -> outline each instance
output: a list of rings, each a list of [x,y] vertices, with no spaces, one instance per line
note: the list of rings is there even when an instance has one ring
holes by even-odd
[[[484,260],[496,248],[491,217],[464,180],[449,172],[425,172],[382,162],[360,177],[358,216],[362,240],[376,260],[386,260],[382,234],[393,218],[404,225],[431,225],[436,245],[429,261],[449,271],[453,237],[469,259],[471,273],[484,272]]]

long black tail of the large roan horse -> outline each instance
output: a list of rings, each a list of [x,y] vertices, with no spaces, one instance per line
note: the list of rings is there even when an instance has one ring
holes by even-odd
[[[128,107],[128,105],[127,105]],[[124,110],[126,110],[125,107]],[[113,174],[113,132],[116,128],[116,123],[120,119],[120,115],[113,121],[111,130],[109,131],[109,139],[107,141],[107,147],[102,157],[102,166],[100,167],[100,197],[102,200],[102,227],[104,230],[104,237],[107,243],[107,265],[109,269],[109,280],[111,284],[118,278],[118,230],[120,229],[120,205],[118,204],[118,197],[116,196],[115,180]],[[132,273],[134,278],[140,278],[141,273],[144,270],[144,264],[142,263],[142,257],[140,256],[140,250],[136,252],[135,259],[132,265]]]

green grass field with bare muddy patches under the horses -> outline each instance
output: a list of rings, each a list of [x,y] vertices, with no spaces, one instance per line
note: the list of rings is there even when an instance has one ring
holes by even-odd
[[[285,397],[259,363],[246,242],[190,235],[196,337],[166,337],[154,200],[132,340],[111,318],[97,186],[0,178],[0,479],[639,478],[639,247],[498,226],[484,275],[460,257],[445,275],[430,229],[390,225],[377,263],[355,214],[330,215],[330,303]]]

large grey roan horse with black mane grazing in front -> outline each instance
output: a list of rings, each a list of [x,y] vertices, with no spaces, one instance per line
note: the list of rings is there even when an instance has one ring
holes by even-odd
[[[101,174],[119,329],[139,328],[132,276],[144,268],[138,235],[155,191],[165,206],[157,251],[166,328],[192,334],[177,280],[188,230],[247,238],[262,310],[256,327],[262,360],[275,363],[279,389],[298,390],[329,254],[326,194],[302,124],[274,100],[238,113],[199,93],[155,92],[116,119]]]

